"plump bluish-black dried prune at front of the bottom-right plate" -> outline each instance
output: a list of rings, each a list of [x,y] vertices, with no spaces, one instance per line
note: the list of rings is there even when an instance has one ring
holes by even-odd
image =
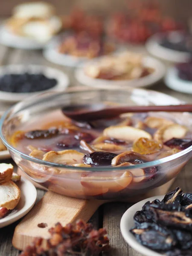
[[[154,223],[144,222],[130,231],[137,241],[152,250],[170,250],[177,243],[170,230]]]

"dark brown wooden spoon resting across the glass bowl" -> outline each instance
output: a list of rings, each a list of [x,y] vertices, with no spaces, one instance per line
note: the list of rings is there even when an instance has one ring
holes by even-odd
[[[167,106],[122,106],[106,107],[105,104],[90,105],[71,105],[62,108],[65,116],[76,121],[93,121],[97,119],[113,118],[122,113],[128,112],[148,112],[148,111],[166,111],[166,112],[192,112],[192,104],[189,105],[167,105]]]

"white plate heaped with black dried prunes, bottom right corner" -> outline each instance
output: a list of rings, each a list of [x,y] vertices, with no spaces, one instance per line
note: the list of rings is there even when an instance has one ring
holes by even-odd
[[[180,187],[134,204],[122,216],[125,241],[146,256],[192,255],[192,193]]]

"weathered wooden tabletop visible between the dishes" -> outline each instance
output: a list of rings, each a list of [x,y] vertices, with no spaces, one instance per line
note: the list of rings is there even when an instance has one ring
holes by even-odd
[[[42,52],[40,50],[27,51],[21,49],[10,49],[4,46],[0,46],[0,65],[7,64],[42,64],[50,67],[56,67],[68,74],[70,77],[70,86],[78,85],[73,77],[73,68],[61,67],[49,63],[42,57]],[[163,81],[152,86],[150,89],[167,93],[171,96],[177,97],[178,99],[192,103],[192,95],[172,91],[163,84]],[[3,104],[0,102],[1,111],[6,110],[9,106],[9,104]],[[13,161],[7,160],[6,162],[12,163]],[[180,186],[183,188],[184,192],[192,192],[191,169],[192,161],[190,161],[180,172],[170,190],[174,189],[176,186]],[[38,189],[38,200],[41,199],[43,195],[44,191]],[[113,250],[111,250],[110,256],[141,256],[140,253],[137,253],[135,250],[131,249],[128,244],[125,243],[119,230],[120,219],[126,209],[128,209],[130,206],[131,204],[128,203],[108,203],[102,205],[90,219],[96,228],[105,227],[108,230],[108,237],[110,239],[111,247],[113,248]],[[15,226],[18,224],[18,222],[19,221],[9,225],[8,227],[0,229],[0,256],[19,255],[20,252],[12,246],[12,236]]]

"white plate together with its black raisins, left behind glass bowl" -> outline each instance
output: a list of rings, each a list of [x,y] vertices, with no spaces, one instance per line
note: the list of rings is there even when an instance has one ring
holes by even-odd
[[[64,91],[68,76],[61,70],[41,65],[7,65],[0,67],[0,100],[19,102],[38,93]]]

